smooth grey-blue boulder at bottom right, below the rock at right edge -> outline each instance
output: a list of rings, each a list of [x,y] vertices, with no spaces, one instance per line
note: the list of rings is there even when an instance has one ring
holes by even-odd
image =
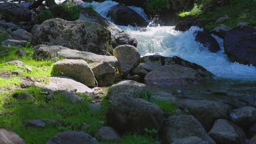
[[[217,144],[244,144],[246,139],[243,129],[226,119],[216,120],[209,135]]]

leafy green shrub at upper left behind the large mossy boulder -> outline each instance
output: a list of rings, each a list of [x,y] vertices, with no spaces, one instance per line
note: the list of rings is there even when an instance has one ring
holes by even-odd
[[[76,20],[80,14],[80,8],[71,3],[54,5],[50,10],[55,18],[62,18],[69,21]]]

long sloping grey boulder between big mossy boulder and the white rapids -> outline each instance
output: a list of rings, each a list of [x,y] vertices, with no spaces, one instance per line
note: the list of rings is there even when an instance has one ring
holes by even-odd
[[[111,45],[114,48],[119,45],[133,45],[137,47],[138,41],[136,36],[128,33],[125,30],[120,29],[110,21],[107,21],[93,9],[82,8],[80,12],[80,17],[77,19],[77,21],[96,22],[104,27],[107,27],[107,29],[111,32]]]

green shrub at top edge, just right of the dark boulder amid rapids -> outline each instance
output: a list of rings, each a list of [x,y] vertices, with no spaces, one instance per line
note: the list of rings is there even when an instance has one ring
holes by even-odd
[[[160,12],[164,8],[169,8],[170,4],[168,0],[149,0],[146,4],[146,8],[150,12]]]

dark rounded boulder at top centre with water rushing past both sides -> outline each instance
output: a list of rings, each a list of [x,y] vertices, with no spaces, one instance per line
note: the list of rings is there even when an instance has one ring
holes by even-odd
[[[110,11],[107,14],[107,17],[110,17],[111,20],[115,22],[115,24],[122,26],[148,26],[148,22],[144,18],[142,18],[136,11],[122,4],[111,7]]]

